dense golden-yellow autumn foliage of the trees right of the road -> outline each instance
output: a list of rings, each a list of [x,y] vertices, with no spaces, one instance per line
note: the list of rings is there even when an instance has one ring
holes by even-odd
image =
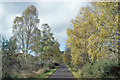
[[[91,3],[81,8],[67,29],[67,46],[71,49],[71,63],[82,66],[118,54],[118,3]]]

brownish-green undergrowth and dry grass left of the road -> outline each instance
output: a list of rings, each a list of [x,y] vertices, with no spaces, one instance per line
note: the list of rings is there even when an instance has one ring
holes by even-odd
[[[4,58],[3,58],[4,60]],[[8,62],[9,61],[9,62]],[[48,76],[46,73],[52,72],[59,66],[58,63],[43,65],[39,63],[38,57],[29,55],[28,60],[16,58],[7,59],[6,64],[3,64],[2,78],[35,78],[37,75],[40,78]]]

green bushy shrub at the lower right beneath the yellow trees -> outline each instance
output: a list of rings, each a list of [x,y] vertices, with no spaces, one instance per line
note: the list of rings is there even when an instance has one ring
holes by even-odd
[[[119,76],[120,67],[117,58],[86,63],[80,74],[81,78],[117,78]]]

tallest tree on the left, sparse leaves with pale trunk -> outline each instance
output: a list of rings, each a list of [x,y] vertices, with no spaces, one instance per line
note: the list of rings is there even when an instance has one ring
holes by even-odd
[[[14,20],[13,34],[17,38],[19,49],[25,55],[30,51],[30,39],[33,30],[39,23],[38,11],[35,6],[29,6],[21,17],[16,17]],[[26,58],[26,56],[25,56]]]

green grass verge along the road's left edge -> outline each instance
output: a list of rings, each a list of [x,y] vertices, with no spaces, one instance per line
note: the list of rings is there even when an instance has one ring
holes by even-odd
[[[56,66],[55,69],[50,69],[44,72],[43,74],[37,75],[35,78],[48,78],[50,75],[52,75],[59,66]]]

